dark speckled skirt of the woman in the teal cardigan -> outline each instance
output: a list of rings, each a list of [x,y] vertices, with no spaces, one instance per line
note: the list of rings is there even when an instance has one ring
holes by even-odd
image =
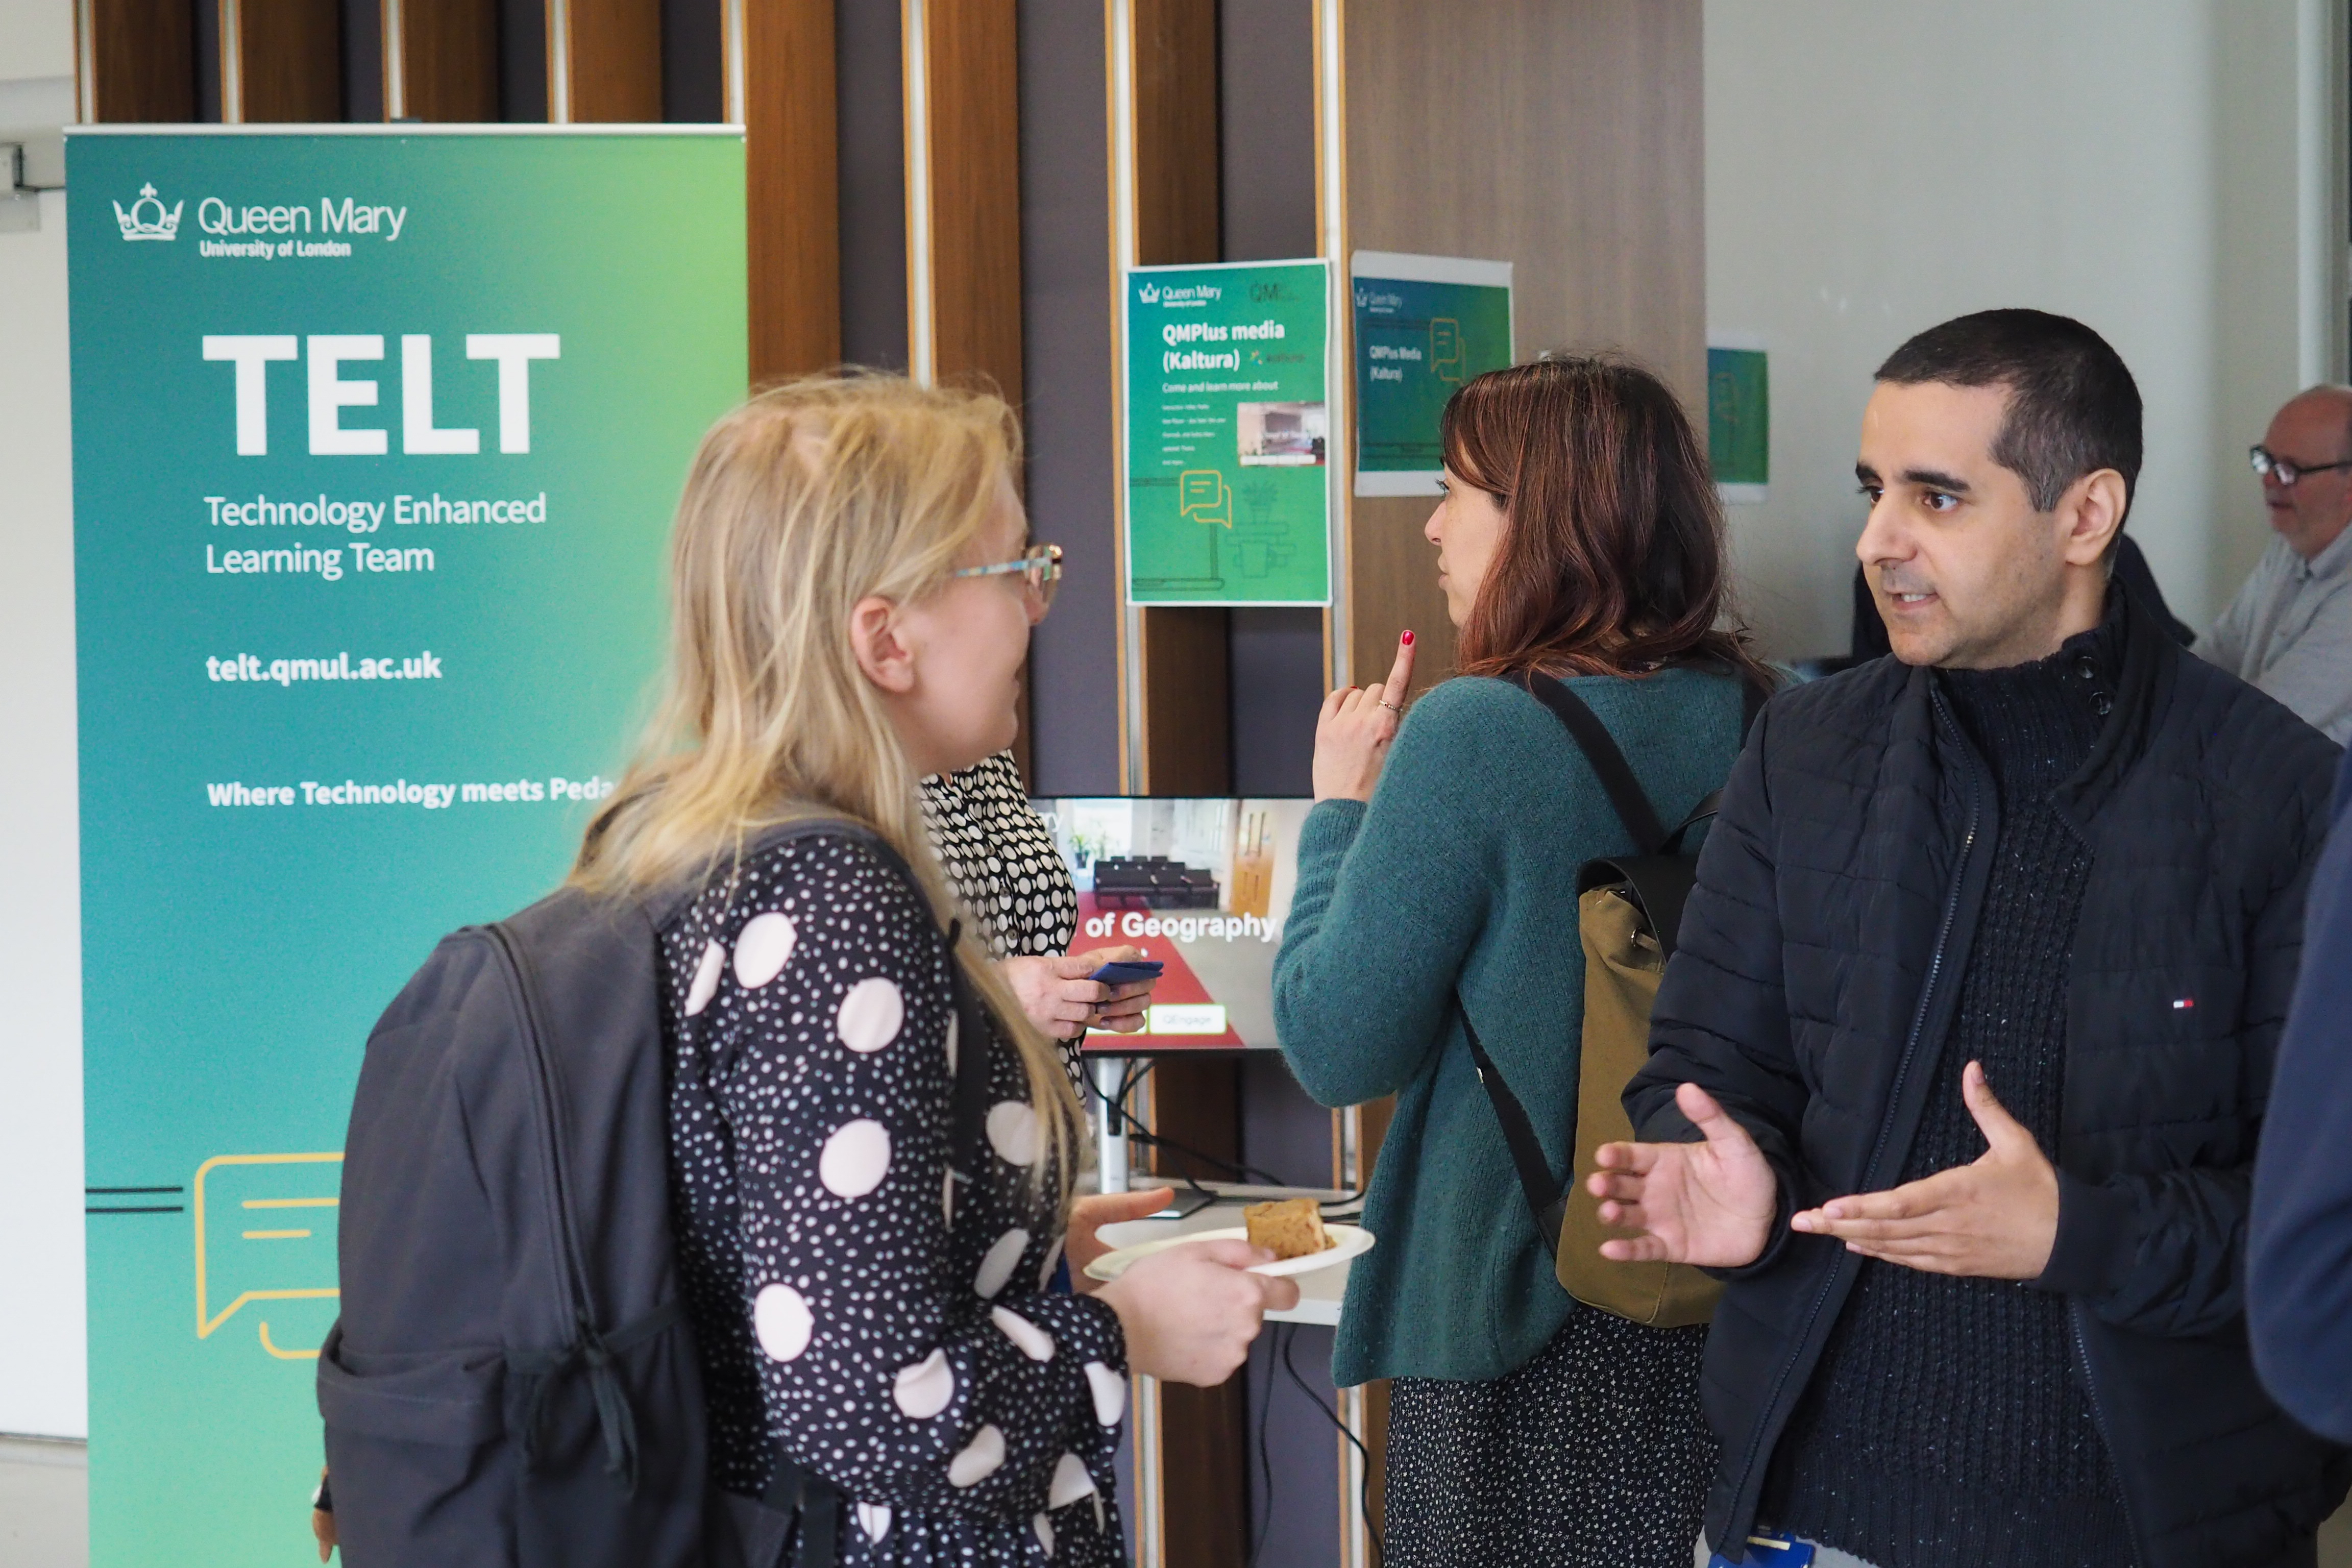
[[[1388,1568],[1691,1568],[1715,1439],[1700,1328],[1578,1307],[1491,1382],[1388,1392]]]

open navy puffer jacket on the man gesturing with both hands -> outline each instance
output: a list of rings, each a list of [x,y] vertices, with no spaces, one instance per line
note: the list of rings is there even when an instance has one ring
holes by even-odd
[[[2258,1568],[2317,1530],[2352,1455],[2246,1352],[2246,1206],[2336,748],[2126,607],[2114,712],[2058,809],[2091,849],[2067,987],[2058,1244],[2074,1378],[2140,1568]],[[1703,1399],[1708,1540],[1738,1552],[1773,1443],[1860,1267],[1788,1215],[1896,1182],[1969,964],[1997,825],[1931,670],[1891,658],[1776,698],[1724,790],[1625,1091],[1646,1140],[1696,1081],[1780,1173],[1729,1276]],[[2053,954],[2053,961],[2056,954]],[[1952,1354],[1969,1354],[1955,1345]]]

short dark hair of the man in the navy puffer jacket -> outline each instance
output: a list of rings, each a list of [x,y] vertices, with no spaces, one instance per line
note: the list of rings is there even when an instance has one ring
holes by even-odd
[[[1978,310],[1929,327],[1886,355],[1893,386],[2006,386],[2009,414],[1992,461],[2025,480],[2046,512],[2086,473],[2124,475],[2124,510],[2140,482],[2140,386],[2124,357],[2082,322],[2049,310]]]

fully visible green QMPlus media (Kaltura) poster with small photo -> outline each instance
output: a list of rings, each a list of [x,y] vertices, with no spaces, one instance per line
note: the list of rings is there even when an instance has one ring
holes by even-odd
[[[1127,273],[1127,599],[1329,604],[1327,261]]]

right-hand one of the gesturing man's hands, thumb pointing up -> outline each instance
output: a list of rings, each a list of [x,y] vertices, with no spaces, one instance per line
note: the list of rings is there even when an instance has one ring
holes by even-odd
[[[2058,1244],[2058,1171],[2025,1126],[2002,1110],[1980,1063],[1959,1074],[1959,1098],[1985,1133],[1983,1159],[1886,1192],[1830,1199],[1790,1229],[1837,1237],[1846,1251],[1929,1274],[2032,1279]]]

